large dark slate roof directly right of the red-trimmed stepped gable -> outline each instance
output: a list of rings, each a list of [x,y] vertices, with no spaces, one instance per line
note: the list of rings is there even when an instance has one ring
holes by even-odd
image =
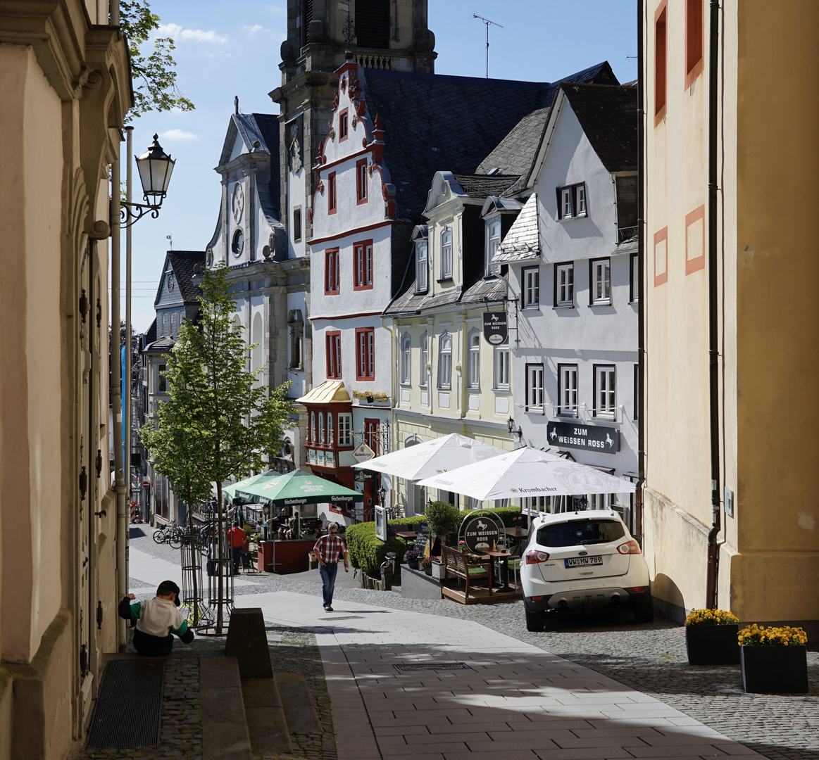
[[[385,131],[384,162],[396,186],[397,214],[414,221],[421,221],[438,170],[477,173],[499,137],[551,105],[560,81],[618,81],[606,61],[554,83],[371,69],[364,77],[369,114],[380,115]]]

